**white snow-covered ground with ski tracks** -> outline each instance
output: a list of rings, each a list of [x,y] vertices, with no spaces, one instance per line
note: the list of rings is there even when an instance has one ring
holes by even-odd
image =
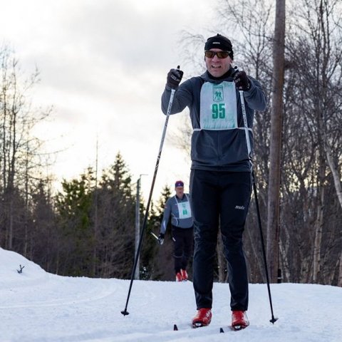
[[[20,254],[0,249],[0,341],[342,341],[342,288],[272,284],[279,318],[272,325],[266,285],[251,284],[251,324],[231,331],[227,284],[214,284],[212,323],[197,329],[190,327],[196,309],[190,281],[134,281],[130,314],[123,316],[129,284],[48,274]]]

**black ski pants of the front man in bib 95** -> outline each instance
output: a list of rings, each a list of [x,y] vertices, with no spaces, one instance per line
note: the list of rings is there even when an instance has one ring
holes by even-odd
[[[252,192],[251,172],[192,170],[190,196],[195,252],[192,265],[197,310],[212,308],[217,234],[221,230],[233,310],[248,308],[248,276],[242,234]]]

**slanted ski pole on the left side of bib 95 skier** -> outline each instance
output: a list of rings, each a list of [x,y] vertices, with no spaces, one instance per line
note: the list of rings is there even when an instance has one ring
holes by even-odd
[[[180,66],[177,66],[177,69],[179,69],[179,68],[180,68]],[[158,155],[157,155],[157,162],[155,163],[155,173],[154,173],[153,179],[152,179],[152,184],[151,184],[151,188],[150,188],[150,195],[148,196],[148,200],[147,200],[147,207],[146,207],[146,211],[145,211],[144,221],[142,223],[142,229],[141,229],[141,233],[140,233],[140,239],[139,239],[137,253],[135,254],[135,260],[134,260],[134,264],[133,264],[132,275],[130,276],[130,288],[128,289],[128,296],[127,296],[127,300],[126,300],[125,309],[123,311],[121,311],[121,314],[123,314],[123,316],[126,316],[126,315],[130,314],[127,311],[128,301],[130,300],[130,291],[132,290],[135,269],[137,268],[137,264],[138,264],[138,257],[139,257],[139,254],[140,254],[140,249],[141,249],[141,244],[142,244],[142,237],[144,235],[144,231],[145,231],[146,224],[147,224],[148,211],[150,209],[150,202],[151,202],[151,198],[152,198],[153,188],[155,187],[155,178],[157,177],[157,171],[158,171],[158,167],[159,167],[160,155],[162,155],[162,145],[164,145],[167,123],[169,122],[169,117],[170,117],[170,113],[171,113],[173,97],[175,96],[175,91],[176,91],[175,89],[171,90],[169,105],[167,106],[165,125],[164,125],[164,129],[162,131],[162,140],[160,141],[159,152],[158,152]]]

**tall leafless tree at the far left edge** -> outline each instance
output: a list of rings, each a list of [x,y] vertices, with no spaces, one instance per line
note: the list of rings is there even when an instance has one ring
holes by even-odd
[[[14,229],[21,229],[23,225],[20,218],[23,210],[26,210],[26,228],[23,230],[26,229],[27,232],[28,171],[33,168],[37,170],[38,167],[39,142],[32,137],[31,130],[36,123],[46,118],[48,113],[33,110],[27,98],[33,85],[38,82],[38,71],[24,79],[18,60],[6,46],[0,50],[0,71],[0,230],[3,232],[0,243],[12,249]],[[21,192],[25,192],[24,208],[21,204]]]

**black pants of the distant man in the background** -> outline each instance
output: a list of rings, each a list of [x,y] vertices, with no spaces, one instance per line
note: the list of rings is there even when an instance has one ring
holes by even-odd
[[[175,244],[173,257],[175,258],[175,273],[180,269],[187,269],[187,263],[192,255],[194,244],[194,229],[180,228],[172,224],[172,239]]]

